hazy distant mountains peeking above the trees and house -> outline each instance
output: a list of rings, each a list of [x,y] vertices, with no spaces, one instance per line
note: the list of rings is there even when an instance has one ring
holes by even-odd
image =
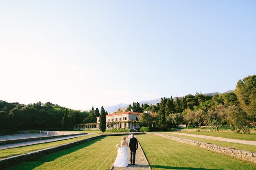
[[[229,91],[226,91],[224,93],[231,93],[233,92],[234,90],[229,90]],[[220,92],[213,92],[213,93],[204,93],[204,95],[211,95],[213,96],[214,94],[222,94]],[[163,98],[163,97],[162,97]],[[158,98],[158,99],[154,99],[154,100],[145,100],[145,101],[141,101],[139,102],[140,104],[143,104],[143,103],[148,103],[148,105],[150,104],[153,104],[153,105],[156,105],[157,103],[160,103],[161,102],[161,98]],[[131,103],[132,104],[132,103]],[[119,104],[115,104],[115,105],[112,105],[112,106],[106,106],[105,107],[105,110],[108,111],[108,112],[115,112],[118,110],[118,108],[126,108],[127,106],[129,106],[129,104],[126,104],[126,103],[119,103]]]

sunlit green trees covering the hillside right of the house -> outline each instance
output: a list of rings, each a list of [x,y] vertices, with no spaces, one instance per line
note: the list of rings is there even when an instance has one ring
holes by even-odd
[[[142,111],[152,111],[153,114],[142,113],[139,116],[141,123],[154,121],[162,128],[187,124],[200,128],[206,125],[218,130],[229,125],[234,132],[249,133],[249,127],[254,129],[256,126],[256,75],[239,80],[231,93],[161,98],[156,106],[150,105]]]

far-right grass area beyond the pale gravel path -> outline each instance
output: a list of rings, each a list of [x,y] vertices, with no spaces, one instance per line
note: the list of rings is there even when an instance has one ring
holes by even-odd
[[[206,136],[214,136],[214,137],[225,137],[231,139],[241,139],[247,141],[256,141],[256,133],[248,134],[237,134],[234,132],[179,132],[179,133],[189,133],[195,135],[206,135]]]

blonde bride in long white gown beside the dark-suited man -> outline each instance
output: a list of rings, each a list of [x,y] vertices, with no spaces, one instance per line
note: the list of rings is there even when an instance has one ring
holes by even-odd
[[[122,137],[121,147],[118,148],[117,158],[115,160],[114,166],[116,167],[126,167],[128,166],[128,142],[126,137]]]

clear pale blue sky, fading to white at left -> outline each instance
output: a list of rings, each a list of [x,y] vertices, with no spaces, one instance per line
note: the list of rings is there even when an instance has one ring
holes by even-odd
[[[0,99],[87,110],[256,74],[254,0],[0,2]]]

